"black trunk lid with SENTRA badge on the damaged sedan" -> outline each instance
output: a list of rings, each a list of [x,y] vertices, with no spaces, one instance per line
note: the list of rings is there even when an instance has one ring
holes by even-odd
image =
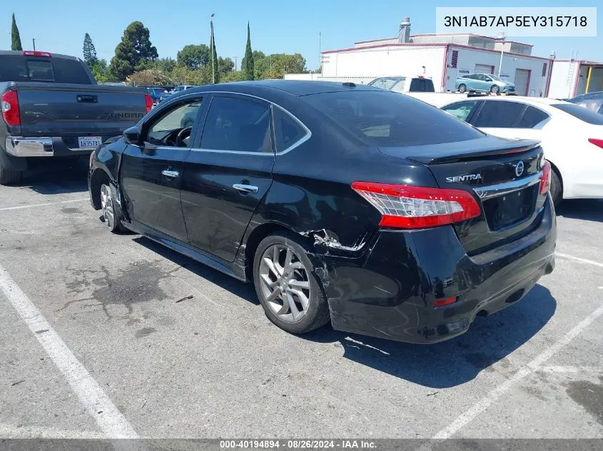
[[[480,205],[480,217],[454,224],[469,255],[506,244],[538,226],[546,195],[539,195],[542,147],[537,141],[477,140],[380,149],[420,162],[440,188],[465,190]]]

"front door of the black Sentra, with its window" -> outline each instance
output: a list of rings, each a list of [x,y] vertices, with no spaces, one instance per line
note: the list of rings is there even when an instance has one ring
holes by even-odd
[[[202,105],[201,95],[193,95],[157,110],[143,124],[143,144],[127,145],[121,157],[128,217],[181,242],[188,239],[180,202],[184,160],[198,134]]]

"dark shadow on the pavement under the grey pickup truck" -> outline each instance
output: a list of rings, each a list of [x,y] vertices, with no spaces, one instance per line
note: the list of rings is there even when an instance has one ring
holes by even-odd
[[[35,161],[14,187],[29,188],[41,195],[57,195],[88,191],[88,161],[49,159]]]

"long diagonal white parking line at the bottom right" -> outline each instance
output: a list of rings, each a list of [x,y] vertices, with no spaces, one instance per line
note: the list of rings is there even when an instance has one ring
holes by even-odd
[[[603,306],[600,306],[599,309],[595,310],[589,316],[584,318],[584,320],[582,320],[577,326],[572,328],[572,330],[566,333],[562,338],[559,338],[558,341],[553,343],[552,346],[547,348],[544,352],[540,353],[536,358],[534,358],[534,360],[520,368],[517,373],[505,380],[505,382],[502,384],[498,385],[497,388],[491,390],[490,393],[485,395],[485,397],[473,405],[472,408],[467,410],[465,413],[462,413],[462,415],[450,423],[450,425],[440,430],[440,432],[437,432],[437,434],[432,437],[432,440],[445,440],[452,437],[452,435],[455,435],[460,429],[462,429],[462,427],[465,427],[465,425],[474,420],[477,415],[480,415],[480,413],[489,408],[490,405],[505,395],[505,393],[507,393],[507,391],[509,391],[513,385],[542,368],[542,364],[544,362],[549,360],[549,358],[554,356],[554,354],[557,352],[561,351],[561,349],[567,346],[569,342],[579,335],[579,333],[584,331],[585,328],[587,328],[593,321],[602,315]],[[420,447],[420,450],[424,449],[430,449],[430,446],[425,445],[424,447]]]

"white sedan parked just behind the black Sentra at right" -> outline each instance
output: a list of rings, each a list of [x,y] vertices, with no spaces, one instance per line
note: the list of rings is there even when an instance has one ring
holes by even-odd
[[[442,106],[490,135],[539,140],[552,166],[551,196],[603,198],[603,115],[550,98],[467,98]]]

